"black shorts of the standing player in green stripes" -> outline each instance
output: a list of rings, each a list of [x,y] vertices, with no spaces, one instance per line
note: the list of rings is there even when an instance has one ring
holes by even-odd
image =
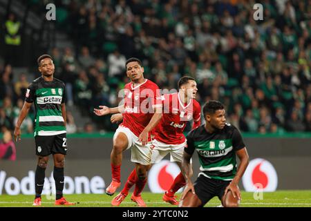
[[[47,156],[50,154],[67,154],[66,133],[53,136],[35,136],[36,155]]]

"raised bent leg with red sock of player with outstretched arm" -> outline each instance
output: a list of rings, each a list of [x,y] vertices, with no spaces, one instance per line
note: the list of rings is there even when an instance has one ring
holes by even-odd
[[[121,185],[122,153],[129,146],[129,140],[124,133],[120,132],[113,138],[113,149],[111,151],[111,173],[112,182],[106,189],[106,194],[113,195]]]

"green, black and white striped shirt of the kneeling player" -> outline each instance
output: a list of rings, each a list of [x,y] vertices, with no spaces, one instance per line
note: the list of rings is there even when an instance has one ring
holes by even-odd
[[[211,179],[232,180],[236,175],[236,151],[245,147],[241,133],[230,124],[222,130],[208,133],[205,125],[187,135],[185,152],[198,153],[200,173]]]

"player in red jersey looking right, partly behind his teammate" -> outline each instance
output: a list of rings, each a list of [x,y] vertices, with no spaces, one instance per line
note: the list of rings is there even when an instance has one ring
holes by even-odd
[[[153,131],[154,140],[152,141],[153,150],[151,163],[160,162],[168,153],[171,155],[171,162],[176,162],[182,169],[182,154],[186,145],[185,135],[183,134],[189,120],[194,120],[193,128],[200,126],[200,104],[194,99],[198,88],[196,81],[192,77],[182,77],[178,81],[178,93],[162,95],[163,115],[160,123]],[[122,116],[113,115],[111,122],[122,120]],[[131,172],[124,186],[124,189],[111,202],[113,206],[118,206],[129,193],[131,186],[135,184],[135,170]],[[185,179],[179,173],[170,189],[164,193],[162,200],[177,205],[178,200],[174,195],[178,189],[185,186]]]

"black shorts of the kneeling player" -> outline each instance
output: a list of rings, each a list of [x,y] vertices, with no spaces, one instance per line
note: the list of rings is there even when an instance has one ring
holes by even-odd
[[[194,182],[194,191],[196,191],[196,195],[198,195],[198,198],[202,202],[201,206],[207,204],[207,202],[215,196],[218,196],[218,199],[221,201],[225,189],[230,182],[231,181],[210,179],[204,175],[200,175],[196,179],[196,182]]]

